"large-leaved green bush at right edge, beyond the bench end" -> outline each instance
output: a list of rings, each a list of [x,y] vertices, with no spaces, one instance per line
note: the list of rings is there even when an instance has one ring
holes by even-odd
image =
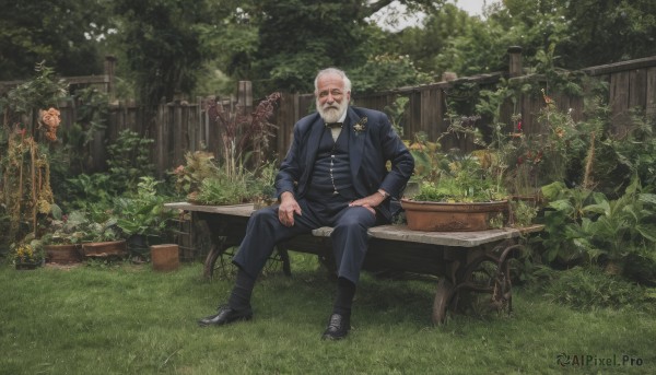
[[[636,178],[618,199],[563,183],[542,188],[549,201],[544,233],[547,261],[624,266],[630,255],[654,257],[656,195],[641,192]]]

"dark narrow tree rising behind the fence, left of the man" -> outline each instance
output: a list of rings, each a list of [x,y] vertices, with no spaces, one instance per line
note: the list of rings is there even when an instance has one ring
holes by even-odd
[[[212,21],[209,1],[116,0],[119,37],[138,96],[152,106],[189,93],[197,72],[214,51],[202,43],[201,25]]]

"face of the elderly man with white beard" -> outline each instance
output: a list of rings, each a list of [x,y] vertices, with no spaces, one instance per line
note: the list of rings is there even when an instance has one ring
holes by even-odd
[[[326,122],[337,122],[342,117],[351,92],[344,92],[344,81],[338,74],[324,74],[317,80],[317,112]]]

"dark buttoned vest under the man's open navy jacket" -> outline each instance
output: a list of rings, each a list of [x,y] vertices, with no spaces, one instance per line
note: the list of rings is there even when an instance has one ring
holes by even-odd
[[[317,150],[306,198],[321,200],[338,194],[345,199],[355,199],[349,164],[349,130],[343,128],[335,142],[327,128]]]

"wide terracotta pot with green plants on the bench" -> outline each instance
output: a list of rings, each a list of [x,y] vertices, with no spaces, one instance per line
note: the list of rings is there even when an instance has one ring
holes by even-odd
[[[440,163],[419,194],[401,199],[408,227],[415,231],[483,231],[507,223],[508,201],[488,150]]]

